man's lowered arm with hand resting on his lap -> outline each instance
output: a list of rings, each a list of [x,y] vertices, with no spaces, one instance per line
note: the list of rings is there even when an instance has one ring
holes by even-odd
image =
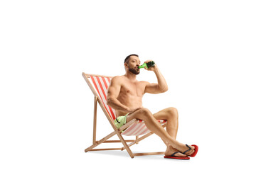
[[[110,86],[107,89],[107,105],[114,108],[115,110],[128,113],[129,108],[117,100],[121,89],[121,84],[119,82],[119,77],[113,77],[110,81]]]

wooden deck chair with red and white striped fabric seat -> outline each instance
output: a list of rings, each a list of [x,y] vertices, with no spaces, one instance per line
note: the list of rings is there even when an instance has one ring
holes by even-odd
[[[126,149],[129,156],[134,158],[134,156],[142,156],[142,155],[154,155],[154,154],[164,154],[164,152],[146,152],[146,153],[133,153],[129,147],[134,144],[138,144],[139,141],[144,140],[146,137],[154,134],[150,130],[146,128],[146,125],[143,120],[131,120],[129,123],[126,123],[121,128],[117,129],[114,125],[114,119],[116,118],[116,114],[113,108],[107,105],[107,88],[110,84],[112,77],[95,75],[95,74],[85,74],[82,73],[82,77],[84,77],[88,86],[92,90],[94,94],[94,119],[93,119],[93,136],[92,136],[92,145],[85,149],[85,152],[88,151],[99,151],[99,150],[124,150]],[[103,113],[107,117],[107,120],[112,125],[114,132],[111,132],[106,137],[103,137],[102,140],[96,140],[96,124],[97,124],[97,103],[100,104]],[[159,123],[165,128],[166,120],[158,120]],[[108,140],[110,137],[117,135],[119,140]],[[135,140],[124,140],[123,136],[135,136]],[[143,135],[139,137],[139,135]],[[102,143],[110,143],[110,142],[122,142],[124,147],[122,148],[105,148],[105,149],[93,149]],[[130,142],[127,144],[127,142]]]

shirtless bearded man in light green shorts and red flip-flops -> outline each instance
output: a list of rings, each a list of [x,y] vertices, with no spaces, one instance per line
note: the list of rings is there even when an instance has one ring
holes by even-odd
[[[147,60],[145,63],[149,62]],[[142,107],[142,97],[145,93],[159,94],[168,90],[166,80],[155,64],[146,70],[156,74],[157,84],[150,84],[147,81],[137,81],[136,77],[141,64],[138,55],[129,55],[124,60],[125,74],[113,77],[107,91],[107,105],[114,108],[117,113],[115,124],[117,128],[124,123],[136,118],[144,120],[146,127],[159,135],[168,144],[165,156],[171,158],[194,157],[196,145],[183,145],[176,141],[178,130],[178,111],[176,108],[166,108],[158,113],[152,114],[147,108]],[[167,120],[166,130],[157,120]],[[194,153],[195,152],[195,153]],[[193,154],[194,153],[194,154]]]

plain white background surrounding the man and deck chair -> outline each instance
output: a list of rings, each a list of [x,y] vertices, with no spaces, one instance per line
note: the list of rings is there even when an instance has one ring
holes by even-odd
[[[1,1],[1,169],[254,166],[255,8],[225,0]],[[81,74],[122,75],[132,53],[154,60],[166,78],[169,91],[146,94],[144,107],[178,108],[177,140],[199,146],[190,161],[84,152],[93,95]],[[137,78],[156,82],[144,69]],[[100,140],[112,129],[98,115]],[[165,146],[154,135],[131,149]]]

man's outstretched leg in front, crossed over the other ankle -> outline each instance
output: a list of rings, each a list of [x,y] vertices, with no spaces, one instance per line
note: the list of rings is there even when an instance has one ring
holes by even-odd
[[[156,120],[156,118],[154,118],[154,115],[152,115],[152,113],[148,109],[140,108],[139,110],[134,111],[134,113],[127,115],[127,122],[134,118],[144,120],[146,127],[151,130],[151,132],[154,132],[156,135],[161,137],[161,139],[166,141],[169,147],[174,147],[180,152],[185,152],[188,149],[186,145],[181,144],[180,142],[176,141],[174,137],[171,137]],[[190,147],[191,150],[186,152],[187,155],[191,155],[194,152],[195,147]]]

